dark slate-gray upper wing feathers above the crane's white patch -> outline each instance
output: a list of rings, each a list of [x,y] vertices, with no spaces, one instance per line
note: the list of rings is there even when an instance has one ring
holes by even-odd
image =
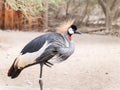
[[[38,51],[46,41],[49,41],[49,43],[56,43],[56,42],[61,42],[62,40],[63,45],[64,45],[64,38],[61,34],[58,33],[47,33],[44,35],[41,35],[32,41],[30,41],[21,51],[22,54],[25,53],[32,53]],[[62,45],[62,44],[61,44]]]

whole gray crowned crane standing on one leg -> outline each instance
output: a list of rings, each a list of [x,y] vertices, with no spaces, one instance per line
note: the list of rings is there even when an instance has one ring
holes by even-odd
[[[52,67],[54,65],[50,62],[51,59],[54,58],[57,62],[67,60],[75,50],[72,35],[81,33],[78,32],[73,21],[63,23],[59,29],[62,29],[61,31],[64,31],[64,34],[48,32],[26,44],[8,70],[8,77],[14,79],[25,68],[40,64],[40,78],[42,78],[43,66]],[[39,81],[39,84],[41,84],[41,81]]]

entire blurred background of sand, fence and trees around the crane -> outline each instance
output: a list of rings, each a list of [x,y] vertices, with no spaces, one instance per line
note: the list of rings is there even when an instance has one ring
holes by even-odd
[[[120,90],[120,0],[0,0],[0,90],[39,89],[39,65],[16,79],[8,69],[29,41],[69,19],[85,34],[73,35],[68,60],[44,67],[45,90]]]

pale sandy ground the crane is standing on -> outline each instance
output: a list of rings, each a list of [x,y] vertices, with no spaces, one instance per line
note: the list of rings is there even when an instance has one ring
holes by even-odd
[[[38,32],[0,31],[0,86],[39,87],[39,65],[22,71],[16,79],[7,71],[21,49]],[[120,38],[74,35],[76,50],[66,61],[44,67],[45,88],[67,90],[120,90]]]

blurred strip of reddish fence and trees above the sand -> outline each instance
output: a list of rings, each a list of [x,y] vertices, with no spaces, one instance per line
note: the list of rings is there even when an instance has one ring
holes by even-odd
[[[119,0],[0,0],[0,29],[55,31],[75,19],[83,32],[120,34]]]

